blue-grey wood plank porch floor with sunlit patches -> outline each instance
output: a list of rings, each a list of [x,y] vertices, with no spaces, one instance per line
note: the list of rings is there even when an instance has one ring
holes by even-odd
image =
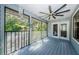
[[[13,54],[18,55],[77,55],[74,47],[69,41],[45,38],[37,41]]]

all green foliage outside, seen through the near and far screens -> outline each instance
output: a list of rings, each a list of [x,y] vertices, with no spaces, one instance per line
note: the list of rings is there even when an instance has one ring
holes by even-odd
[[[45,31],[47,29],[46,23],[41,23],[36,19],[32,22],[33,31]],[[6,13],[5,31],[27,31],[29,23],[20,21],[20,17]]]

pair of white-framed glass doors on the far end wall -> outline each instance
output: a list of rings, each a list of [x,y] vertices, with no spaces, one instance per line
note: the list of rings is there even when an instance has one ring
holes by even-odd
[[[53,37],[69,40],[69,22],[56,22],[53,26]]]

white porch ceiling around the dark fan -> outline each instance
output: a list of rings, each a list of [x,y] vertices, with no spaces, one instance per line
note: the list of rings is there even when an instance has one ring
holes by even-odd
[[[50,4],[50,5],[52,7],[52,11],[55,11],[58,8],[60,8],[63,4]],[[49,12],[48,11],[49,4],[20,4],[20,6],[39,17],[43,16],[43,14],[41,14],[40,12],[46,12],[46,13]],[[71,17],[76,7],[77,7],[77,4],[67,4],[67,6],[62,8],[60,11],[64,11],[67,9],[70,9],[70,11],[66,13],[62,13],[64,16],[57,16],[56,19]],[[42,18],[47,19],[45,17],[42,17]]]

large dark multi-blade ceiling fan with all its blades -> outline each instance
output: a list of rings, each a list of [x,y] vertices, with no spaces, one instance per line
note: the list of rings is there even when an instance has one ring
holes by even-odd
[[[45,12],[40,12],[40,13],[41,13],[41,14],[44,14],[44,16],[46,16],[46,18],[48,18],[48,19],[50,19],[51,17],[54,18],[54,19],[56,19],[56,16],[64,16],[62,13],[65,13],[65,12],[70,11],[70,9],[68,9],[68,10],[64,10],[64,11],[59,12],[59,11],[60,11],[62,8],[64,8],[66,5],[67,5],[67,4],[62,5],[59,9],[57,9],[57,10],[54,11],[54,12],[52,11],[51,6],[49,5],[49,6],[48,6],[49,13],[45,13]],[[44,17],[44,16],[43,16],[43,17]]]

